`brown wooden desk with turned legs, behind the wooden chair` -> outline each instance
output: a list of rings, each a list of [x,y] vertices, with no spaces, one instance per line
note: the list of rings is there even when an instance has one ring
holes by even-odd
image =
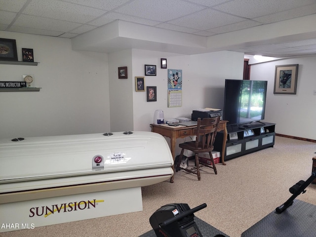
[[[222,164],[226,165],[224,161],[225,157],[225,148],[226,148],[226,140],[227,140],[227,128],[226,128],[227,121],[220,120],[217,131],[224,130],[223,136],[223,146],[222,146]],[[152,132],[157,132],[162,136],[170,138],[170,150],[173,157],[173,161],[175,160],[176,154],[176,140],[177,138],[184,138],[188,136],[196,135],[196,128],[197,126],[169,126],[167,124],[151,124]],[[174,167],[173,167],[174,168]],[[173,176],[170,179],[170,182],[173,183]]]

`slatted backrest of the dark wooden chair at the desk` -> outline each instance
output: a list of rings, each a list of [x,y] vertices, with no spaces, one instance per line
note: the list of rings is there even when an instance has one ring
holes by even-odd
[[[210,149],[215,141],[220,117],[197,118],[196,149]]]

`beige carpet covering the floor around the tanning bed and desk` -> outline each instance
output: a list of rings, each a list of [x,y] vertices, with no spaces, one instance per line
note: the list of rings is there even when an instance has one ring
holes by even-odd
[[[85,221],[2,233],[2,237],[138,237],[150,230],[150,216],[160,206],[188,203],[207,207],[195,215],[230,237],[241,233],[274,211],[291,194],[288,189],[311,176],[316,143],[276,137],[267,148],[217,164],[218,174],[202,168],[201,181],[184,171],[167,181],[142,188],[143,211]],[[297,199],[316,205],[316,185]],[[128,201],[128,197],[126,197]]]

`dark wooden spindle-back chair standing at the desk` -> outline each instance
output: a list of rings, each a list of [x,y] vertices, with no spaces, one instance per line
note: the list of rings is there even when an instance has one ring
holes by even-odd
[[[197,133],[196,140],[191,142],[185,142],[179,144],[179,147],[182,148],[179,160],[176,165],[176,170],[183,169],[187,172],[197,174],[197,179],[201,180],[199,168],[202,166],[207,166],[209,168],[214,169],[215,174],[217,174],[217,170],[215,167],[214,159],[212,156],[212,151],[214,149],[213,144],[215,141],[215,136],[217,133],[218,123],[220,121],[220,117],[216,118],[200,118],[197,119]],[[190,150],[195,153],[195,166],[191,169],[181,168],[180,162],[183,157],[184,150]],[[200,163],[198,160],[198,154],[202,152],[208,152],[209,157],[211,159],[212,165],[208,165],[206,163]]]

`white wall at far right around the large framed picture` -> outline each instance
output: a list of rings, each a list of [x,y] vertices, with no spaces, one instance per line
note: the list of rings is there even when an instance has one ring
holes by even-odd
[[[276,65],[299,64],[297,91],[274,94]],[[251,65],[250,79],[268,80],[265,121],[276,123],[276,133],[316,140],[316,56]]]

